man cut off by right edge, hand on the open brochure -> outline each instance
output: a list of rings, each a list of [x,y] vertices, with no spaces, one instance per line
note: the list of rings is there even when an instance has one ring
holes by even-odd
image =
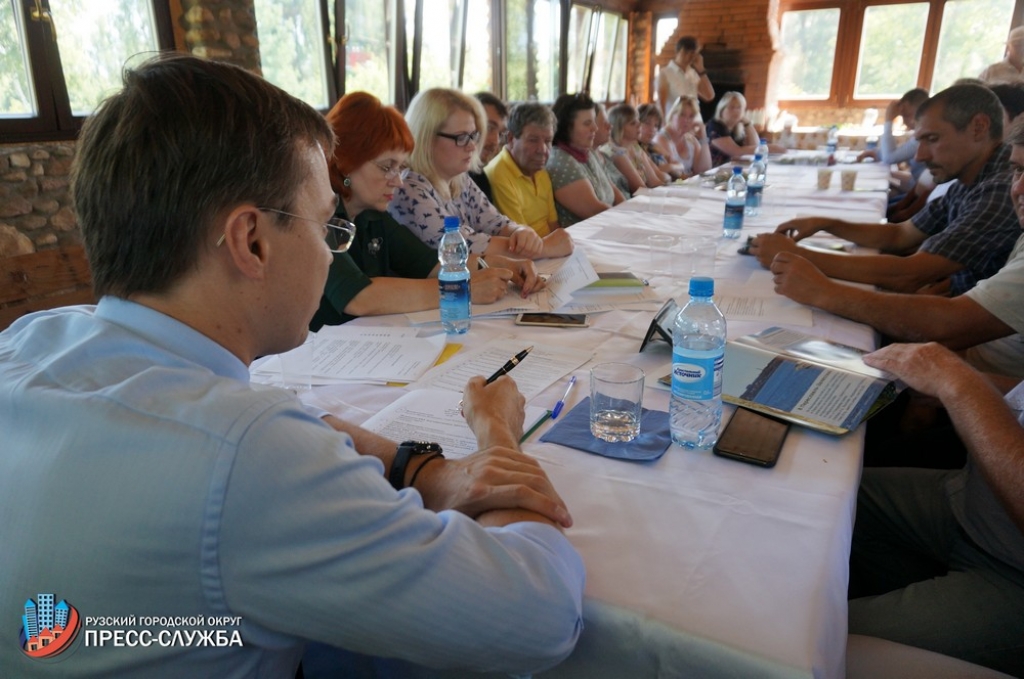
[[[989,381],[937,344],[864,363],[937,398],[968,457],[963,469],[864,469],[850,634],[1024,676],[1024,383]]]

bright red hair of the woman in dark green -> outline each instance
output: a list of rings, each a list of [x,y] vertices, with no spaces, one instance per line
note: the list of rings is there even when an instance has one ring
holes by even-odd
[[[388,151],[412,153],[413,133],[394,107],[385,107],[373,94],[352,92],[338,99],[327,114],[338,137],[328,167],[331,186],[343,198],[351,192],[345,177]]]

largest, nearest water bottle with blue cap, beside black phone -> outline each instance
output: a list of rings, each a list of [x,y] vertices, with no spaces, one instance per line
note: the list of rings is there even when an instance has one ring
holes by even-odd
[[[715,305],[713,279],[690,279],[690,301],[679,310],[672,337],[672,440],[707,450],[722,424],[725,316]]]

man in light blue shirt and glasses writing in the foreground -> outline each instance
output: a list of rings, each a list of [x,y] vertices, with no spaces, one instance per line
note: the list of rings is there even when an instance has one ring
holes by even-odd
[[[350,241],[327,223],[333,141],[298,99],[182,55],[87,121],[99,304],[0,334],[5,676],[291,679],[307,640],[523,674],[572,649],[583,565],[518,451],[512,380],[468,383],[481,452],[460,461],[249,384],[303,341]]]

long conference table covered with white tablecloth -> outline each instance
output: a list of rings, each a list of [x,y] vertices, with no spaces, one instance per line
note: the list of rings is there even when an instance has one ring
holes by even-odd
[[[800,215],[881,219],[889,168],[847,167],[859,173],[855,190],[840,188],[838,171],[830,188],[818,189],[813,165],[773,160],[762,213],[746,218],[742,240]],[[717,286],[741,284],[762,269],[755,258],[736,253],[742,240],[721,238],[724,192],[710,183],[694,178],[655,189],[573,225],[570,232],[599,271],[632,270],[648,279],[663,300],[684,303],[687,274],[650,270],[648,235],[715,239]],[[621,235],[624,226],[629,238],[604,240]],[[708,270],[710,263],[698,268]],[[653,383],[669,372],[671,346],[654,342],[638,352],[652,316],[649,310],[616,309],[593,314],[587,329],[474,319],[458,341],[478,346],[515,337],[524,345],[592,352],[574,372],[580,385],[566,410],[587,394],[591,366],[634,364],[647,375],[644,408],[668,411],[669,392]],[[394,315],[355,323],[408,322]],[[792,328],[864,349],[877,342],[871,329],[831,314],[815,310],[813,324]],[[728,334],[736,338],[772,325],[786,327],[770,319],[730,321]],[[558,379],[529,405],[551,408],[564,388],[565,379]],[[323,389],[332,390],[334,412],[355,423],[403,391],[370,385]],[[726,406],[726,417],[731,410]],[[572,513],[574,525],[566,535],[587,566],[585,629],[568,660],[539,676],[844,676],[848,558],[863,427],[841,437],[793,427],[777,465],[764,469],[677,445],[654,462],[604,458],[541,442],[551,426],[545,423],[523,450],[542,462]]]

